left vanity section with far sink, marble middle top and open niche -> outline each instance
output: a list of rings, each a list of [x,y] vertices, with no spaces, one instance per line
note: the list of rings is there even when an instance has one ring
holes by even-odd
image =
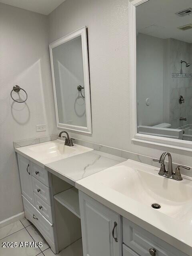
[[[126,160],[109,154],[102,156],[102,152],[77,144],[69,147],[64,145],[64,140],[15,148],[15,151],[25,216],[54,253],[82,236],[75,182]]]

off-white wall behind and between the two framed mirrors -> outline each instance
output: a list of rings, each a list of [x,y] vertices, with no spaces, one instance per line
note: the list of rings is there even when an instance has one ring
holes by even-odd
[[[174,162],[192,166],[191,153],[131,143],[128,0],[66,0],[49,22],[49,42],[88,27],[93,134],[70,135],[156,158],[169,150]]]

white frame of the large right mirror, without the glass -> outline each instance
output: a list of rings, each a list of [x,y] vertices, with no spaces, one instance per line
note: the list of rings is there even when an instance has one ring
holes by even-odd
[[[137,93],[136,93],[136,6],[147,2],[148,0],[128,0],[129,8],[129,67],[130,67],[130,85],[131,85],[131,138],[133,143],[152,144],[157,146],[166,146],[178,150],[192,152],[192,142],[187,140],[178,140],[139,134],[137,132]],[[143,145],[144,146],[144,145]]]

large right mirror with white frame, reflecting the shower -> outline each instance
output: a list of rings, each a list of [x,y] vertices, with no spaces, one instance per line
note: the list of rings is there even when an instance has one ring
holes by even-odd
[[[192,151],[192,2],[129,8],[132,140]]]

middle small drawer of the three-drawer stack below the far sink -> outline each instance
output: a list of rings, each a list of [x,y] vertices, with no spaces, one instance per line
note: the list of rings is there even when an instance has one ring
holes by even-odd
[[[50,188],[45,186],[42,182],[32,177],[33,190],[40,198],[44,200],[47,204],[51,205],[50,202]]]

